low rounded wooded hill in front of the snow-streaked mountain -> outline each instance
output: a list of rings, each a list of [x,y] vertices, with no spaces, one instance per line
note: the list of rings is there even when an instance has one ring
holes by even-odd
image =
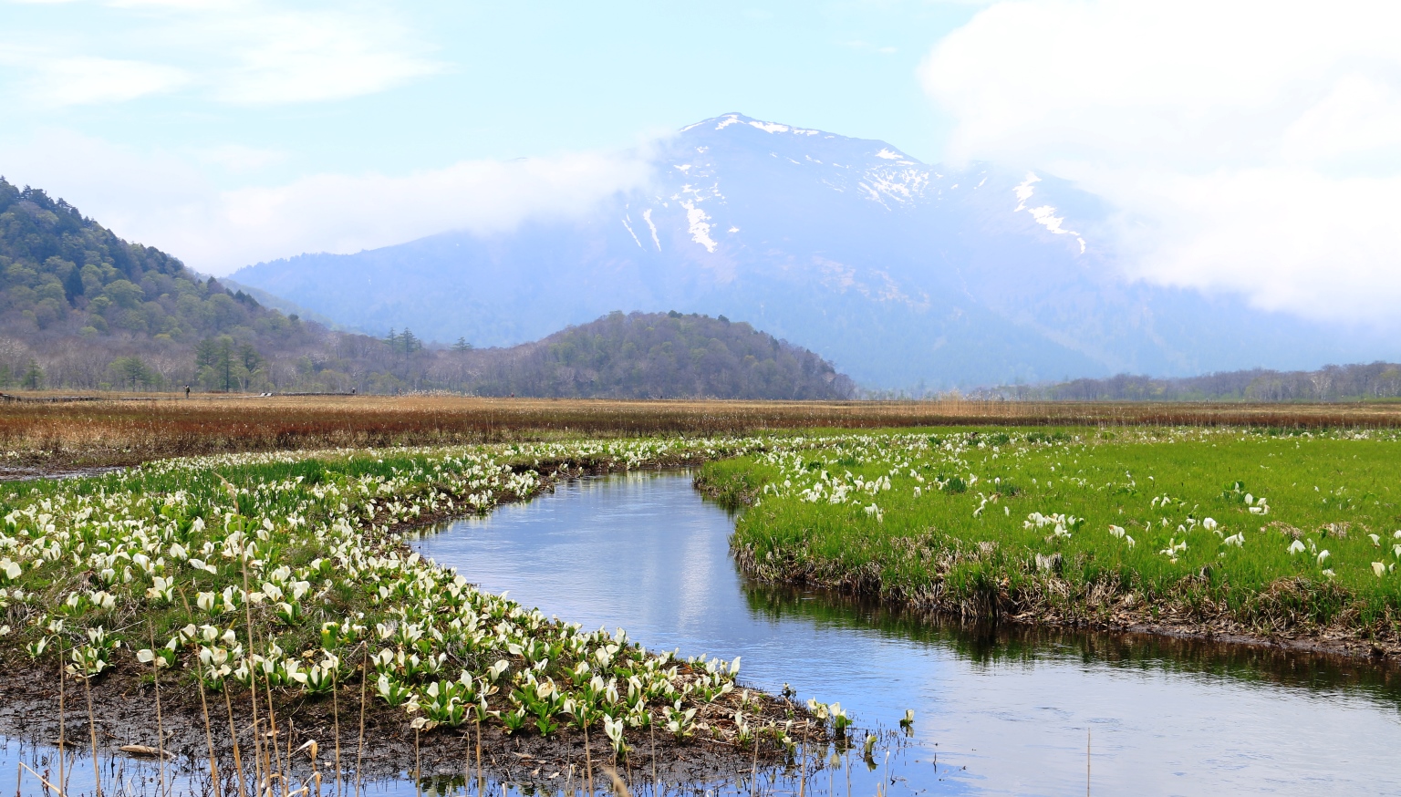
[[[476,395],[551,398],[849,399],[855,385],[807,349],[744,322],[611,312],[534,343],[454,354]]]

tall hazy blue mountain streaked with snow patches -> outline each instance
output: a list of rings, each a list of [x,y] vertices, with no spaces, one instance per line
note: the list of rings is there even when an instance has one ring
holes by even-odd
[[[489,346],[611,310],[727,314],[887,388],[1398,353],[1238,297],[1124,279],[1103,233],[1110,210],[1051,175],[929,165],[885,141],[740,113],[681,130],[653,167],[651,186],[583,220],[300,255],[235,277],[342,324]]]

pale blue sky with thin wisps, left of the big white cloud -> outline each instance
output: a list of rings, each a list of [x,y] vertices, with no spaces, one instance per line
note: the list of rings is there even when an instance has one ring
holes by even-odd
[[[188,153],[210,164],[202,171],[220,188],[626,147],[727,111],[881,137],[934,158],[946,125],[925,101],[916,67],[976,10],[922,1],[328,3],[297,4],[298,15],[287,18],[279,8],[289,7],[0,6],[0,42],[11,50],[0,60],[3,102],[24,109],[7,113],[0,136],[18,144],[63,129],[140,151]],[[378,59],[380,74],[335,74],[342,59],[360,55]],[[164,71],[132,74],[125,91],[83,91],[69,84],[115,70],[64,64],[80,57]],[[301,80],[300,70],[332,74],[282,97],[280,84]],[[123,92],[139,95],[111,99]]]

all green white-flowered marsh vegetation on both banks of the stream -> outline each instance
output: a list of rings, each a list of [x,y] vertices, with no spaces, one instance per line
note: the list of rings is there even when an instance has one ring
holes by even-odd
[[[366,703],[415,745],[485,730],[583,737],[604,761],[656,761],[658,742],[792,754],[849,717],[737,688],[737,661],[482,592],[398,534],[581,469],[699,462],[748,507],[736,553],[768,580],[964,618],[1397,649],[1397,433],[1068,427],[231,454],[7,483],[0,660],[45,695],[66,672],[70,709],[104,681],[154,707],[158,685],[202,717],[226,782],[231,754],[238,791],[290,769],[282,720],[335,723],[322,761],[331,738],[335,773],[359,772]],[[97,737],[88,712],[70,735]]]

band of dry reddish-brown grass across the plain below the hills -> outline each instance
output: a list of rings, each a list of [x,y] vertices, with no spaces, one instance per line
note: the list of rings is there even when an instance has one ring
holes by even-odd
[[[39,394],[29,394],[36,396]],[[908,426],[1401,426],[1394,403],[757,402],[469,396],[112,395],[0,403],[0,468],[59,471],[163,457],[426,445],[569,434],[738,434]]]

